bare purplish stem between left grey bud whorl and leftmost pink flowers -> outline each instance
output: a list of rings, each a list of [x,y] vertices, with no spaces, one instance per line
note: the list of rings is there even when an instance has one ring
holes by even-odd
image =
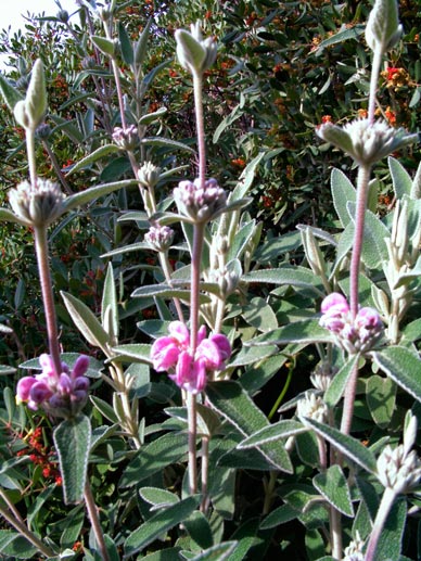
[[[49,350],[54,364],[55,374],[59,377],[62,371],[60,359],[59,332],[55,318],[54,296],[48,260],[47,226],[34,227],[35,251],[37,254],[39,281],[41,284],[43,309],[46,314],[47,334]]]

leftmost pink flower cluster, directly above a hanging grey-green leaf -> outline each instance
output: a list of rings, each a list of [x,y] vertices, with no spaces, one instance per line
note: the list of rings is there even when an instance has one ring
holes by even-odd
[[[29,409],[42,407],[56,417],[77,415],[88,399],[89,380],[85,377],[89,357],[80,355],[73,370],[62,362],[62,372],[56,374],[50,355],[39,357],[40,374],[21,378],[16,387],[16,401],[27,403]]]

